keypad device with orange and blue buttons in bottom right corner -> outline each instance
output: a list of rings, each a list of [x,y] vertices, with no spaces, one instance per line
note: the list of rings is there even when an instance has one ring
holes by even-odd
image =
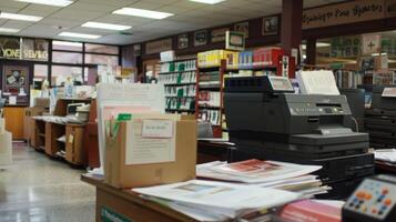
[[[396,178],[377,175],[366,179],[343,208],[343,221],[396,222]]]

